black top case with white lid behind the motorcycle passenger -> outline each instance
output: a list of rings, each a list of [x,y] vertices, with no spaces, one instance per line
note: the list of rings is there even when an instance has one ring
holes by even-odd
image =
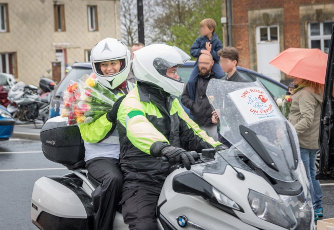
[[[67,168],[84,165],[85,147],[78,126],[67,126],[61,116],[49,119],[41,129],[45,157]]]

